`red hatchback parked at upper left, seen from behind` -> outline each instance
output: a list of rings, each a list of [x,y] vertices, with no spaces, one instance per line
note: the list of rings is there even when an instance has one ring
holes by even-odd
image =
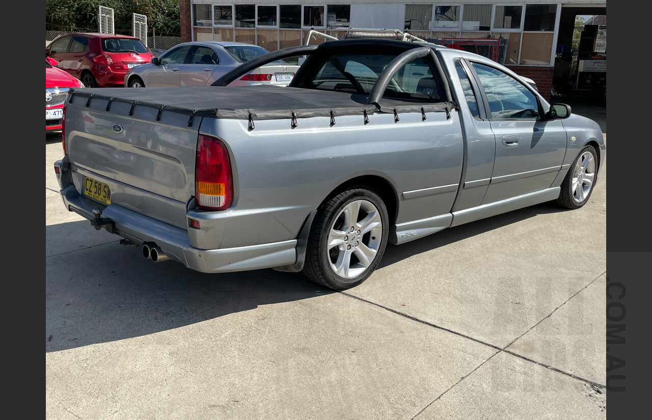
[[[86,87],[122,87],[127,70],[154,57],[135,36],[100,33],[61,35],[45,49],[45,56]]]

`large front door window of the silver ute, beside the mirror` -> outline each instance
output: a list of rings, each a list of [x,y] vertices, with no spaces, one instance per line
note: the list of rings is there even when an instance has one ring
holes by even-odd
[[[492,119],[537,119],[537,97],[522,83],[491,66],[471,63],[489,101]]]

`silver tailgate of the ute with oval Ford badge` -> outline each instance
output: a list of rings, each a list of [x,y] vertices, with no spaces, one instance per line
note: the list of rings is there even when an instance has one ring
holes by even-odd
[[[194,195],[198,121],[158,109],[94,98],[67,105],[66,148],[73,180],[107,184],[114,204],[185,229],[186,203]],[[198,120],[198,119],[197,119]]]

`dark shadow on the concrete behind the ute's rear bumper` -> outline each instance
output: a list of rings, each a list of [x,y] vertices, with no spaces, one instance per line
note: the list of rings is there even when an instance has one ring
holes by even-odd
[[[57,240],[55,232],[62,229],[93,235],[86,221],[61,225],[46,226],[46,241]],[[260,305],[334,293],[271,269],[208,274],[171,260],[155,263],[143,258],[140,247],[120,245],[115,238],[78,241],[76,247],[62,246],[61,253],[46,257],[46,352],[142,337]]]

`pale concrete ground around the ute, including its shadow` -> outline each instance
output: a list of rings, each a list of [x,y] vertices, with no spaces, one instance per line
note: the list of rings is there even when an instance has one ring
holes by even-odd
[[[65,210],[62,156],[46,135],[47,419],[606,418],[606,165],[579,210],[388,245],[333,292],[143,259]]]

